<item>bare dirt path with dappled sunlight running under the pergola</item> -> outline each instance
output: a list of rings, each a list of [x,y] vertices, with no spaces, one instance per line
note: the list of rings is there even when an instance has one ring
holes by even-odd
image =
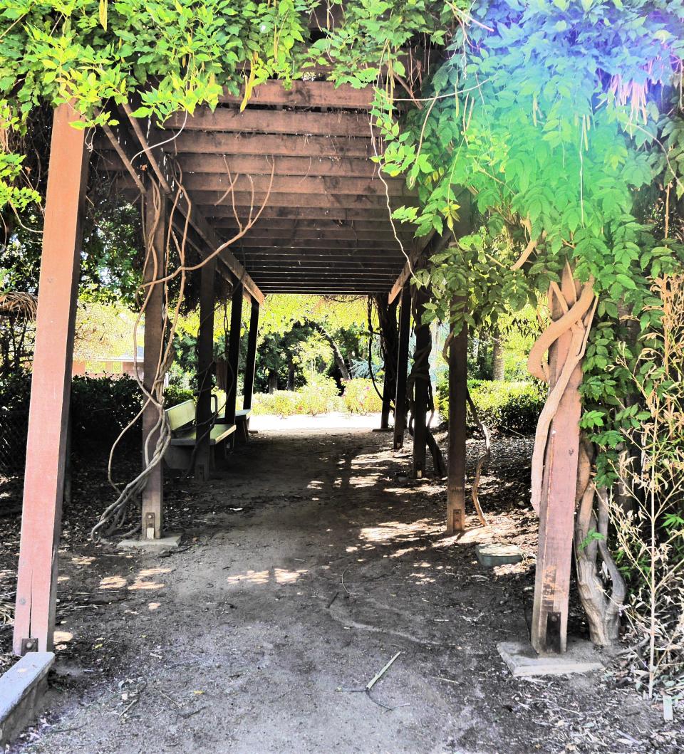
[[[533,552],[529,443],[501,455],[520,478],[486,480],[492,531],[460,541],[442,533],[443,486],[407,479],[388,445],[259,434],[224,478],[170,483],[179,550],[65,550],[48,713],[17,750],[675,751],[672,725],[611,676],[516,680],[498,657],[526,635],[531,561],[486,571],[474,543]]]

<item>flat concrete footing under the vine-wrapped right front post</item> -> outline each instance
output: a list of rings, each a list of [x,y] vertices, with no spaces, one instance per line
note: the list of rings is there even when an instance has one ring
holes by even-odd
[[[496,648],[514,676],[563,676],[603,667],[594,645],[579,639],[568,639],[563,654],[537,654],[528,641],[499,642]]]

